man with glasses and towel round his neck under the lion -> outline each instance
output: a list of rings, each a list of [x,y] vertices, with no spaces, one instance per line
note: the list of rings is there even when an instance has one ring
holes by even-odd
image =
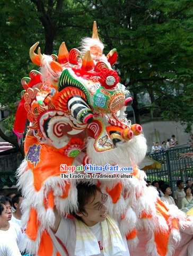
[[[55,209],[55,225],[52,231],[65,245],[68,255],[123,255],[129,256],[125,235],[119,224],[108,215],[108,195],[96,185],[77,185],[78,210],[74,219],[61,217]],[[105,234],[105,236],[104,236]],[[70,238],[69,238],[70,237]]]

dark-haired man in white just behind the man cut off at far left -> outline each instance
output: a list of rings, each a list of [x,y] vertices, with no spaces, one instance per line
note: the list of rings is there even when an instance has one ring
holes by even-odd
[[[15,242],[17,243],[17,246],[21,245],[21,229],[19,225],[16,223],[13,223],[11,221],[12,218],[12,201],[8,197],[1,197],[0,202],[3,203],[6,207],[6,213],[7,213],[7,222],[6,225],[2,228],[3,232],[5,231],[6,234],[10,235],[10,237],[13,237]]]

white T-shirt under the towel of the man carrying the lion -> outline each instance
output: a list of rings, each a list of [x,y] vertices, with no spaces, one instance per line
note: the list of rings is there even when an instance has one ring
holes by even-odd
[[[89,228],[91,229],[93,234],[96,236],[97,241],[99,243],[101,253],[98,254],[97,256],[104,255],[101,224],[97,223],[94,226]],[[66,219],[63,217],[62,220],[60,221],[60,225],[55,235],[59,238],[60,241],[64,243],[69,256],[74,256],[75,245],[76,245],[76,226],[75,226],[74,220]],[[130,254],[128,250],[126,237],[122,234],[121,236],[122,236],[122,241],[124,242],[125,248],[127,250],[126,252],[122,252],[122,256],[129,256]],[[96,255],[92,255],[92,256],[96,256]]]

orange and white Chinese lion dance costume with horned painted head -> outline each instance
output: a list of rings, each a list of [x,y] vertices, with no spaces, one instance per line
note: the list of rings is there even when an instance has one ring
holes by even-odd
[[[32,70],[29,78],[22,79],[14,124],[20,137],[27,118],[30,122],[25,159],[17,171],[25,198],[24,248],[39,256],[60,255],[48,232],[55,222],[54,206],[60,215],[76,210],[76,183],[88,181],[60,178],[61,164],[110,164],[132,166],[133,178],[90,176],[89,181],[109,195],[109,214],[120,221],[130,254],[172,255],[180,229],[192,222],[176,206],[166,206],[153,187],[146,187],[146,175],[137,167],[146,155],[146,140],[142,127],[131,125],[124,115],[132,98],[112,70],[117,50],[103,54],[95,22],[92,38],[82,40],[81,52],[75,48],[68,52],[63,42],[58,56],[42,55],[40,48],[36,54],[38,44],[31,47],[30,58],[40,72]]]

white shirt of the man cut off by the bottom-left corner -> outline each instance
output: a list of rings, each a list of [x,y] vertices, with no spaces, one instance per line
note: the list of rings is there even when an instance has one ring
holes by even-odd
[[[14,237],[7,231],[0,232],[0,255],[1,256],[21,256],[20,250]]]

